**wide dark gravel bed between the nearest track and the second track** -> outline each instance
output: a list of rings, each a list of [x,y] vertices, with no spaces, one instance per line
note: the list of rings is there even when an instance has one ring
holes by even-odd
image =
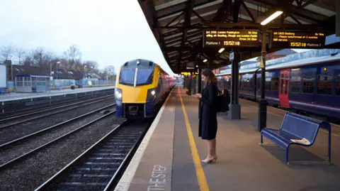
[[[0,190],[34,190],[125,119],[114,114],[0,172]]]

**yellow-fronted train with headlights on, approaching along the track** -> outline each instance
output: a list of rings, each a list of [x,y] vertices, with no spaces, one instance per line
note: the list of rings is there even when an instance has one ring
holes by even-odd
[[[174,87],[174,78],[150,60],[130,60],[118,70],[115,82],[116,116],[151,118]]]

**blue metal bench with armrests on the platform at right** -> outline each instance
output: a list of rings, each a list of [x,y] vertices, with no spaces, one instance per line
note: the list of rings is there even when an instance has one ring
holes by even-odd
[[[327,121],[311,119],[307,116],[301,116],[293,113],[286,113],[283,118],[280,129],[262,129],[261,143],[263,136],[285,149],[285,163],[288,163],[288,148],[290,145],[312,146],[314,144],[319,128],[328,130],[328,162],[331,163],[331,125]],[[310,144],[297,143],[291,139],[307,139]]]

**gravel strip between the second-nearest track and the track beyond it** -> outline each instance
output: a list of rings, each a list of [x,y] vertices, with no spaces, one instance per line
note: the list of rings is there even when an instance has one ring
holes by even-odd
[[[21,138],[30,133],[34,133],[36,131],[45,129],[49,126],[60,124],[63,121],[67,121],[76,116],[86,114],[90,111],[100,109],[101,107],[105,107],[113,103],[114,103],[114,99],[108,99],[103,102],[98,102],[96,104],[88,104],[88,105],[85,105],[84,107],[79,107],[74,110],[65,111],[59,114],[53,114],[52,116],[46,116],[46,117],[43,117],[41,119],[37,119],[34,121],[28,121],[23,124],[17,124],[15,126],[10,126],[8,128],[0,129],[0,134],[1,134],[0,144],[6,143],[8,141],[13,141],[16,138]]]

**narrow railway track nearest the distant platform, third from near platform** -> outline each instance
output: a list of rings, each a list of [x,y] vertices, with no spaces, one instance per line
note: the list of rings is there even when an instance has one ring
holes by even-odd
[[[112,95],[108,95],[108,96],[104,96],[104,97],[98,97],[96,99],[89,99],[89,100],[86,100],[86,101],[83,101],[83,102],[67,104],[67,105],[60,106],[60,107],[55,107],[55,108],[50,108],[50,109],[43,109],[41,111],[33,111],[33,112],[28,113],[28,114],[22,114],[22,115],[18,115],[18,116],[12,116],[12,117],[9,117],[9,118],[6,118],[6,119],[0,119],[0,123],[2,124],[0,126],[0,129],[8,128],[9,126],[14,126],[14,125],[17,125],[17,124],[26,123],[28,121],[33,121],[35,119],[41,119],[41,118],[43,118],[45,116],[52,116],[53,114],[60,114],[60,113],[62,113],[64,111],[69,111],[69,110],[72,110],[72,109],[77,109],[79,107],[85,107],[85,106],[87,106],[89,104],[96,104],[98,102],[104,102],[104,101],[106,101],[108,99],[114,99],[114,97]],[[63,109],[63,108],[66,108],[66,109]],[[57,109],[62,109],[62,110],[54,111],[54,110],[57,110]],[[48,111],[52,111],[52,112],[44,114],[44,113],[46,113]],[[33,116],[34,114],[42,114],[42,115],[40,115],[40,116]],[[33,116],[33,117],[29,117],[29,116]],[[28,118],[25,119],[26,117],[28,117]],[[16,121],[18,119],[20,121]],[[15,121],[15,122],[13,122],[13,121]]]

